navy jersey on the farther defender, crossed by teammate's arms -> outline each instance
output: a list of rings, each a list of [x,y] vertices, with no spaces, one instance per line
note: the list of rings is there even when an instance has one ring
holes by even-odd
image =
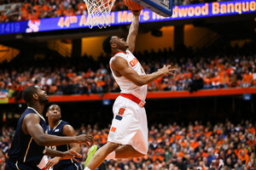
[[[63,127],[65,125],[69,124],[68,122],[65,121],[60,121],[54,128],[50,128],[49,125],[47,126],[46,133],[51,134],[51,135],[56,135],[56,136],[65,136],[62,132]],[[69,144],[63,144],[63,145],[58,145],[58,146],[50,146],[52,150],[59,150],[59,151],[67,151],[70,150]],[[60,168],[60,167],[65,167],[67,165],[73,164],[75,161],[73,159],[68,159],[68,160],[61,160],[59,163],[57,163],[54,167]]]

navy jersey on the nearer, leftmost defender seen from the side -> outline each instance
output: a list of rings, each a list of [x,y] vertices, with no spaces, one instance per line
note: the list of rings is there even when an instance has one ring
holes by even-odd
[[[8,156],[10,161],[18,162],[30,167],[35,167],[39,164],[44,156],[44,146],[39,146],[32,136],[25,134],[22,131],[21,123],[24,117],[28,114],[37,114],[40,117],[40,125],[46,130],[46,123],[44,116],[38,114],[37,111],[31,107],[27,107],[26,111],[21,115],[17,127],[15,129],[15,136],[12,141]]]

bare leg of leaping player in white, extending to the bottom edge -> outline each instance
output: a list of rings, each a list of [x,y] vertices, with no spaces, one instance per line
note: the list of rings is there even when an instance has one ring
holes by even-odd
[[[84,169],[90,169],[95,170],[96,167],[99,167],[102,164],[102,161],[105,160],[105,158],[116,150],[119,147],[119,144],[115,144],[113,142],[108,142],[107,144],[103,145],[99,150],[96,151],[95,155],[92,156],[91,160],[87,166]]]

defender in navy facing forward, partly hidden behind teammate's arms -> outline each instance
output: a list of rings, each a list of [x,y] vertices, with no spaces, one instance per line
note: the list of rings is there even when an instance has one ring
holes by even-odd
[[[46,112],[49,125],[46,133],[56,136],[75,136],[73,127],[65,121],[61,120],[61,108],[59,105],[50,105]],[[63,144],[59,146],[51,146],[52,150],[67,151],[75,150],[80,152],[79,144]],[[46,168],[53,167],[54,170],[81,170],[80,164],[73,159],[61,160],[61,157],[54,157],[48,161]]]

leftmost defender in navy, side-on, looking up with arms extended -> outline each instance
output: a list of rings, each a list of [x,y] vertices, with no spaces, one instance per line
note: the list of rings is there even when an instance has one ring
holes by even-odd
[[[71,143],[93,144],[91,135],[58,137],[44,133],[46,123],[43,111],[44,105],[48,103],[49,99],[44,90],[38,86],[32,85],[25,88],[22,98],[26,101],[28,107],[20,116],[17,124],[5,170],[38,170],[38,164],[44,154],[47,156],[61,156],[62,159],[81,157],[79,153],[73,150],[62,152],[45,149],[45,146]]]

